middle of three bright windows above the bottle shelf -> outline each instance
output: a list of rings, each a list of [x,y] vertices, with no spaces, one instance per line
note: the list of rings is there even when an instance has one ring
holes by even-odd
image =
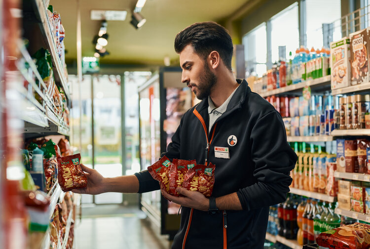
[[[279,12],[270,19],[271,22],[271,62],[279,61],[279,46],[285,53],[281,54],[282,59],[288,59],[289,52],[294,55],[299,47],[299,25],[298,25],[298,4],[294,3]]]

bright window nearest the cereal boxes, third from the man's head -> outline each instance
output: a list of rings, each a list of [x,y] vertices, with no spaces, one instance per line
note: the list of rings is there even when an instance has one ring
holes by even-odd
[[[337,41],[342,37],[339,21],[341,17],[340,0],[306,0],[306,17],[306,37],[309,49],[312,46],[320,49],[324,45],[323,24],[330,25],[329,42]],[[328,45],[324,46],[328,47]]]

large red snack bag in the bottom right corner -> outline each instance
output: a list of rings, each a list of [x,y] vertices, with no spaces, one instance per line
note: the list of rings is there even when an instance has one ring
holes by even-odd
[[[370,226],[356,222],[321,233],[316,239],[320,248],[368,249],[370,247]]]

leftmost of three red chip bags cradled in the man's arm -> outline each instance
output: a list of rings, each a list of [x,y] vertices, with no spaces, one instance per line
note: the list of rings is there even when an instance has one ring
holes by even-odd
[[[152,166],[148,166],[148,171],[153,179],[159,181],[161,189],[166,190],[170,193],[170,180],[168,177],[168,171],[170,170],[171,161],[166,157],[162,157]]]

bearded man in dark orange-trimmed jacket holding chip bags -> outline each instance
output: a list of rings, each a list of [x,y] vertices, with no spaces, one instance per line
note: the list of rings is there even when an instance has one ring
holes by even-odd
[[[195,23],[175,39],[182,82],[203,99],[189,109],[164,153],[169,159],[196,159],[216,165],[210,199],[178,188],[184,197],[162,191],[182,205],[181,225],[173,249],[262,249],[269,206],[286,199],[296,154],[287,143],[280,114],[251,92],[231,71],[233,45],[214,22]],[[227,148],[220,154],[216,149]],[[147,170],[131,176],[103,178],[83,166],[88,186],[76,193],[143,193],[159,189]]]

